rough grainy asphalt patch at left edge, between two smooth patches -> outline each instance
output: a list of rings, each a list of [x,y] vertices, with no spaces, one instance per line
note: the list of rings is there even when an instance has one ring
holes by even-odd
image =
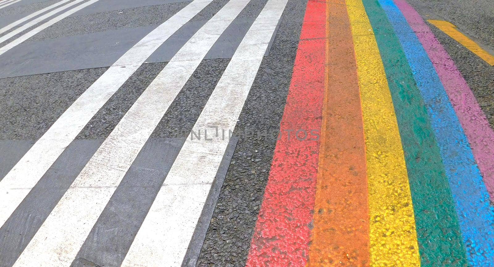
[[[0,79],[0,140],[38,140],[106,70]]]

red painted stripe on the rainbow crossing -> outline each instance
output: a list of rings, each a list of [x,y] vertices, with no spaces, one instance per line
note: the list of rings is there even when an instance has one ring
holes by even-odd
[[[320,141],[288,131],[321,129],[325,91],[326,2],[309,0],[287,104],[247,267],[304,267],[314,209]]]

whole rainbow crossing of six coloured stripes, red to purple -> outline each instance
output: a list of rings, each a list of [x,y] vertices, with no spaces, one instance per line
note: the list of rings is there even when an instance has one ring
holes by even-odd
[[[248,267],[494,266],[494,133],[406,1],[309,1],[284,127]]]

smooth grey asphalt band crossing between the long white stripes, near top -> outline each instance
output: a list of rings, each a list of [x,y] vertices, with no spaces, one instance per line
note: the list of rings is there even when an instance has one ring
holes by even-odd
[[[254,18],[234,20],[205,59],[231,58],[253,21]],[[146,63],[170,61],[205,23],[206,20],[187,22]],[[0,66],[0,78],[111,66],[154,28],[119,29],[22,43],[1,55],[6,60]]]

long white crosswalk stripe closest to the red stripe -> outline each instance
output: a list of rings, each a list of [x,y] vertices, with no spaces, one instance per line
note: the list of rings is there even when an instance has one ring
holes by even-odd
[[[140,227],[122,267],[180,267],[247,94],[287,0],[269,0],[228,64]],[[218,127],[218,136],[216,129]],[[225,130],[225,138],[223,131]],[[205,140],[205,132],[208,139]]]

